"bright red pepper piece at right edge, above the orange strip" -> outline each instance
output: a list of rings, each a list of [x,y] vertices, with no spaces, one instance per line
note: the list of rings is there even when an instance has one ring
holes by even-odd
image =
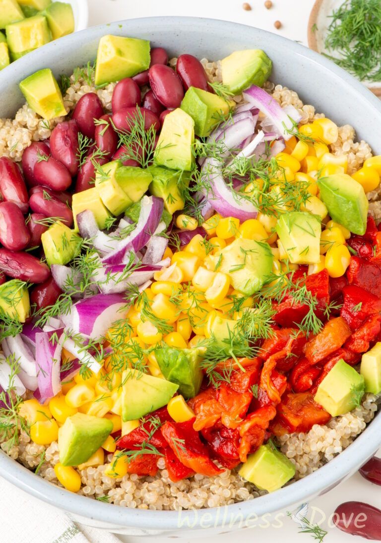
[[[381,312],[381,300],[361,287],[348,285],[343,288],[343,306],[340,315],[352,331],[358,329],[364,320]]]

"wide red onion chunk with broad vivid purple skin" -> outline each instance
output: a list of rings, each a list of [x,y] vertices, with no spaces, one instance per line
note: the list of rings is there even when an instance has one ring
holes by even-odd
[[[123,317],[123,308],[127,312],[126,300],[121,294],[96,294],[78,301],[61,319],[74,333],[101,340],[110,326]]]

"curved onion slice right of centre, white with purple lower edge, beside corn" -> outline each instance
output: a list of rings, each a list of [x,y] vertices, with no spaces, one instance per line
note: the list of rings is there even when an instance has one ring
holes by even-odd
[[[236,217],[241,221],[257,217],[258,210],[255,206],[238,192],[233,193],[232,188],[226,185],[220,162],[216,159],[207,159],[203,171],[208,176],[211,188],[208,200],[217,213],[220,213],[222,217]]]

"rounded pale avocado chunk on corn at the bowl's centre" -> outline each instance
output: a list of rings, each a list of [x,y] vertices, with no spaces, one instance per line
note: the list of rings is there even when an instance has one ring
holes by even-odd
[[[220,255],[217,271],[228,274],[233,287],[246,296],[258,292],[271,274],[273,255],[267,243],[235,239]]]

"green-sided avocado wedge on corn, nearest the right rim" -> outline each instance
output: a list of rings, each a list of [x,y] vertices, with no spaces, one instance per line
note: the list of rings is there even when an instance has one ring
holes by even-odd
[[[366,230],[368,199],[360,183],[350,175],[336,173],[319,179],[317,185],[330,218],[362,236]]]

